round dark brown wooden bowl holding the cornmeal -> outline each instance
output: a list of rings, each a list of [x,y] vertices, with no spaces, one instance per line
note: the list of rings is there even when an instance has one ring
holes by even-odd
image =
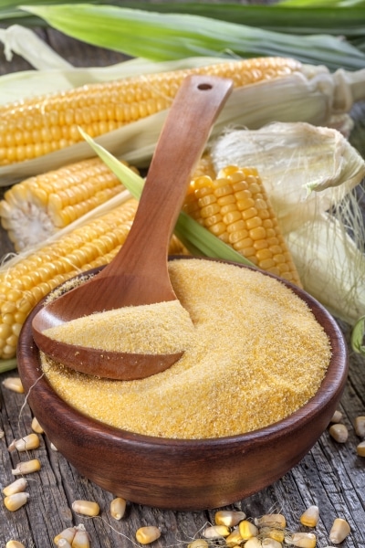
[[[280,479],[313,447],[339,404],[348,373],[347,345],[336,321],[305,291],[287,286],[324,327],[332,357],[318,393],[276,424],[238,436],[180,440],[133,434],[83,416],[41,377],[31,321],[42,303],[28,317],[18,344],[27,401],[70,464],[116,496],[176,511],[245,499]]]

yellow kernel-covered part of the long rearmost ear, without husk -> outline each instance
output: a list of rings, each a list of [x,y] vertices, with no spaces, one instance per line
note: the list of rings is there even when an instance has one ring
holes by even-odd
[[[291,58],[253,58],[142,75],[22,100],[0,107],[0,165],[23,162],[98,137],[170,107],[190,74],[231,78],[235,87],[300,72]]]

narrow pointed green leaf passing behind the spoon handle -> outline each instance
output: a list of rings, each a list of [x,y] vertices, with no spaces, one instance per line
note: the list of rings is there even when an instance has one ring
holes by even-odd
[[[129,167],[120,163],[117,158],[106,151],[97,142],[94,142],[86,132],[79,129],[83,138],[89,143],[99,158],[106,163],[111,171],[123,180],[124,186],[130,191],[130,194],[139,199],[143,189],[143,179],[140,175],[134,173]],[[249,260],[237,253],[235,249],[230,248],[218,237],[215,237],[206,228],[202,227],[193,220],[192,217],[181,212],[176,227],[175,235],[180,239],[185,248],[193,255],[203,255],[210,258],[222,258],[232,260],[249,266],[254,266]]]

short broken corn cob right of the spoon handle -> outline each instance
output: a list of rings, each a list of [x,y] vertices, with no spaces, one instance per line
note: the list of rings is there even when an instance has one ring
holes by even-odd
[[[227,166],[217,178],[193,178],[183,210],[260,269],[301,286],[255,168]]]

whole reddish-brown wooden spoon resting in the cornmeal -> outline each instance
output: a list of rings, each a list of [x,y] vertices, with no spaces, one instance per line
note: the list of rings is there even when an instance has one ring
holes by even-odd
[[[82,373],[121,380],[164,371],[183,355],[106,352],[57,342],[45,331],[94,312],[177,299],[167,262],[172,230],[194,165],[232,87],[232,80],[210,76],[183,81],[162,128],[126,242],[97,276],[37,312],[32,329],[42,352]]]

